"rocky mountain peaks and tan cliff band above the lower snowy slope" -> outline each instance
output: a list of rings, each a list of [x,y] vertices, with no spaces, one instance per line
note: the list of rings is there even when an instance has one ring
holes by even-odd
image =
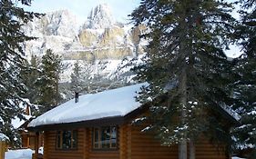
[[[26,25],[26,34],[37,37],[26,43],[27,55],[41,56],[46,49],[52,49],[67,60],[83,60],[89,56],[122,59],[143,53],[138,35],[145,28],[117,23],[108,5],[93,8],[83,25],[78,25],[76,19],[75,15],[62,10],[48,13]]]

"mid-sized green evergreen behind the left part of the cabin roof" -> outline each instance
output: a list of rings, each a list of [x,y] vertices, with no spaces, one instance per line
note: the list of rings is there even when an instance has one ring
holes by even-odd
[[[58,80],[61,71],[61,59],[48,49],[46,55],[42,57],[40,65],[40,77],[36,84],[38,85],[38,102],[40,114],[54,108],[59,104],[61,98],[58,91]]]

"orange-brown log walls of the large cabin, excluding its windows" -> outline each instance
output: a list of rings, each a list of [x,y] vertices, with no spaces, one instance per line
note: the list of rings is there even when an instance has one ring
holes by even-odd
[[[118,149],[109,151],[92,148],[92,128],[78,129],[76,150],[56,149],[56,131],[45,131],[44,159],[178,159],[178,145],[163,146],[153,134],[142,133],[142,129],[143,126],[138,125],[120,125]],[[196,158],[228,159],[229,156],[201,139],[196,144]]]

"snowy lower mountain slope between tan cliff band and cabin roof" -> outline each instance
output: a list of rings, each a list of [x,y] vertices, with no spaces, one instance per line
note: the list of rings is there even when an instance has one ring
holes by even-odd
[[[133,73],[130,71],[134,66],[142,63],[143,55],[138,57],[127,57],[124,59],[105,59],[96,60],[93,64],[89,64],[87,61],[79,60],[80,67],[88,74],[87,78],[93,79],[97,75],[101,76],[102,80],[109,79],[113,81],[123,81],[124,83],[133,83]],[[64,65],[67,65],[67,70],[61,75],[60,83],[69,83],[70,74],[74,68],[74,64],[77,60],[65,60]],[[89,69],[87,68],[89,67]]]

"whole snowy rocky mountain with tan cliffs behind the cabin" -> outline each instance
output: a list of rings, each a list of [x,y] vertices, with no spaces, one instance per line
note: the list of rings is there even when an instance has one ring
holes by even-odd
[[[46,54],[47,49],[61,55],[63,63],[68,66],[60,75],[60,83],[70,82],[77,60],[81,65],[86,64],[85,70],[90,70],[87,71],[87,79],[100,76],[104,85],[113,80],[115,84],[130,82],[133,74],[129,68],[140,63],[143,47],[147,44],[139,39],[146,28],[141,25],[132,28],[116,22],[108,5],[93,8],[83,24],[79,25],[76,19],[69,11],[62,10],[27,24],[24,27],[26,35],[37,37],[25,44],[28,58],[31,55],[40,57]],[[128,67],[125,66],[127,64]],[[97,82],[98,78],[92,84]]]

